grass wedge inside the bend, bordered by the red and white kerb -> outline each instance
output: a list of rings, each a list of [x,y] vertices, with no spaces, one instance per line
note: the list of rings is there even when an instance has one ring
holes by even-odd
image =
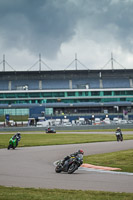
[[[84,156],[84,163],[121,168],[123,172],[133,173],[133,149],[113,153]]]

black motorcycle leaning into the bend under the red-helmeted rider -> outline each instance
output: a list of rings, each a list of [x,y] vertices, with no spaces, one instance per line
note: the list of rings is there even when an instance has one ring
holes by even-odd
[[[83,159],[78,156],[72,156],[62,163],[62,160],[56,162],[56,173],[67,172],[68,174],[74,173],[83,164]]]

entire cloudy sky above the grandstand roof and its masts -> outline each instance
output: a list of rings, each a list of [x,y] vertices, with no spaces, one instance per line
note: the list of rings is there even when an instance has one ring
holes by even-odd
[[[133,0],[0,0],[0,71],[4,54],[39,69],[39,53],[42,70],[74,69],[75,55],[77,68],[109,69],[111,52],[114,68],[133,67]]]

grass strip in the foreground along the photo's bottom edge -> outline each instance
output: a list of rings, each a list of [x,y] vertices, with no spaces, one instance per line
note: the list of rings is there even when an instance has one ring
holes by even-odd
[[[0,200],[132,200],[131,193],[0,186]]]

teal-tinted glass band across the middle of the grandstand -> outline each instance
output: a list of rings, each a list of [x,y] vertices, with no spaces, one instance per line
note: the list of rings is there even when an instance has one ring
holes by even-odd
[[[79,103],[79,102],[133,102],[133,90],[87,90],[9,92],[0,94],[0,104]]]

